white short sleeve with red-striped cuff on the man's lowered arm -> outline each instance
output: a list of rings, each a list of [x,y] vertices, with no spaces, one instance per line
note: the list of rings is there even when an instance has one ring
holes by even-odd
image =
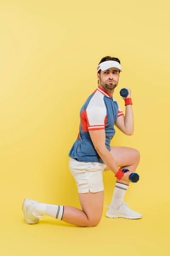
[[[95,98],[91,100],[86,109],[86,119],[88,122],[88,130],[105,129],[107,113],[104,101],[96,104]]]

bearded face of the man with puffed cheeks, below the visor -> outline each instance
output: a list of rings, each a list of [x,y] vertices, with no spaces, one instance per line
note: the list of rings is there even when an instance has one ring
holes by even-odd
[[[105,90],[113,90],[119,83],[119,70],[116,68],[111,68],[106,71],[102,71],[97,74],[99,80],[99,85],[101,85]]]

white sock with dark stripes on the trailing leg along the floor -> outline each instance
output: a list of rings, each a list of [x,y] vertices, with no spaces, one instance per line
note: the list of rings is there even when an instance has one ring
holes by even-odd
[[[52,218],[62,220],[64,213],[64,206],[53,205],[53,204],[42,204],[37,203],[37,207],[34,209],[35,215],[47,215]]]

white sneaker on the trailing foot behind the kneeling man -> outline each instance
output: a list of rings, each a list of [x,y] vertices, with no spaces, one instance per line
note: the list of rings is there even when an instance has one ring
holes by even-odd
[[[41,220],[42,215],[35,215],[33,212],[37,203],[38,201],[29,200],[28,198],[23,201],[24,221],[28,224],[36,224]]]

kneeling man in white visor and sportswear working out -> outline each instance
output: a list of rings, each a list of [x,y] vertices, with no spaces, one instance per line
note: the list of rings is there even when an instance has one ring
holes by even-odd
[[[132,211],[123,201],[129,186],[129,175],[139,164],[139,151],[126,147],[111,147],[115,134],[114,125],[124,134],[133,134],[131,90],[125,100],[125,116],[113,99],[113,92],[122,71],[118,58],[106,56],[97,67],[98,88],[92,93],[80,111],[77,140],[69,152],[69,167],[77,183],[82,210],[70,206],[42,204],[25,199],[24,220],[29,224],[39,222],[42,215],[58,218],[81,227],[99,224],[104,202],[103,171],[111,170],[117,177],[109,218],[139,219],[142,215]],[[119,169],[120,167],[120,169]],[[130,172],[122,172],[128,169]]]

